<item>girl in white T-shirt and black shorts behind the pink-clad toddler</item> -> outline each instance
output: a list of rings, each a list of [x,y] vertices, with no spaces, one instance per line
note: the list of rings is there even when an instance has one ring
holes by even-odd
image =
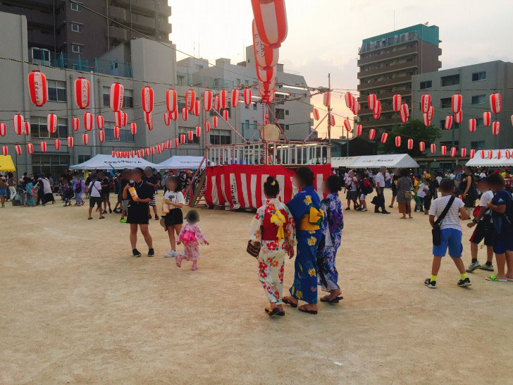
[[[168,232],[169,243],[171,243],[171,250],[169,250],[164,257],[177,257],[176,252],[176,237],[180,235],[183,225],[183,212],[182,207],[185,204],[185,199],[180,188],[180,179],[176,176],[168,176],[165,181],[166,193],[164,193],[162,201],[162,219],[164,230]]]

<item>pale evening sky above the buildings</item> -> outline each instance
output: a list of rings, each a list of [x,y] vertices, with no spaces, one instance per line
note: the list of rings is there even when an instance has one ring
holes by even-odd
[[[287,0],[288,37],[280,48],[285,71],[297,71],[312,87],[356,89],[357,49],[366,37],[429,22],[440,27],[442,69],[492,60],[513,61],[512,0]],[[226,57],[244,60],[252,44],[253,13],[249,0],[169,0],[173,15],[171,40],[177,49],[214,63]],[[183,59],[182,54],[177,59]],[[352,115],[340,94],[335,113]],[[322,105],[321,99],[314,100]],[[322,114],[321,114],[322,116]],[[342,118],[337,117],[337,126]],[[326,126],[319,128],[326,135]],[[336,128],[333,138],[342,135]]]

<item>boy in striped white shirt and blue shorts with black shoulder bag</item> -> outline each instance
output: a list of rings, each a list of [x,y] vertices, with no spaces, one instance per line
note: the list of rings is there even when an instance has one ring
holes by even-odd
[[[431,278],[426,279],[424,284],[428,288],[436,288],[436,276],[440,270],[440,262],[445,257],[447,249],[452,261],[459,271],[460,279],[458,286],[470,286],[470,279],[466,276],[465,267],[462,261],[462,225],[459,220],[469,219],[466,214],[465,204],[457,197],[453,197],[455,185],[450,179],[443,179],[440,182],[440,193],[442,196],[433,200],[429,208],[429,223],[431,227],[435,226],[435,217],[439,218],[448,207],[447,214],[439,224],[440,226],[440,245],[433,245],[433,264],[431,266]]]

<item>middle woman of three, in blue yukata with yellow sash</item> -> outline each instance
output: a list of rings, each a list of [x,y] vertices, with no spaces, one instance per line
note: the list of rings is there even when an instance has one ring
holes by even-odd
[[[283,303],[297,307],[303,300],[307,305],[299,310],[317,314],[317,247],[321,240],[321,222],[324,213],[320,210],[319,195],[314,189],[314,173],[307,166],[296,170],[292,184],[301,191],[288,202],[287,207],[294,217],[297,236],[297,257],[294,264],[294,283],[289,289],[290,296]]]

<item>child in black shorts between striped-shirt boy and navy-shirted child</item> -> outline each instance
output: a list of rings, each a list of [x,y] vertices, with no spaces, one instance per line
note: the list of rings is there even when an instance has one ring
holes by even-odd
[[[479,210],[474,219],[466,224],[467,227],[473,228],[476,226],[474,233],[470,237],[470,253],[472,255],[472,262],[466,269],[467,273],[471,273],[476,269],[483,269],[493,271],[493,228],[491,224],[491,214],[486,213],[488,210],[488,202],[493,200],[493,191],[490,190],[488,179],[481,178],[477,183],[477,188],[481,191],[481,199],[479,200]],[[486,214],[485,214],[486,213]],[[477,260],[478,245],[484,240],[486,245],[486,264],[479,264]]]

